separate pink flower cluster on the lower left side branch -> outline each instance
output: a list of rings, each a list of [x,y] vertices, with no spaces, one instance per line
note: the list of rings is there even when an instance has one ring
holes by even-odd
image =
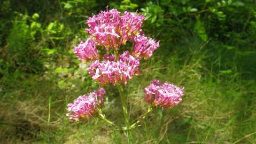
[[[84,94],[74,100],[74,103],[68,103],[67,114],[69,119],[78,121],[79,119],[87,119],[98,114],[97,109],[103,105],[105,90],[96,90],[88,95]]]

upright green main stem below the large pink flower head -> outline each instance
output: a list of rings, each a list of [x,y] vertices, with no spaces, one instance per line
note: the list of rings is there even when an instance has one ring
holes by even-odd
[[[125,96],[123,95],[123,89],[122,86],[120,84],[117,85],[118,86],[118,91],[120,93],[120,98],[121,98],[121,103],[122,103],[122,108],[123,108],[123,116],[125,117],[125,124],[126,124],[126,133],[127,133],[127,138],[128,138],[128,143],[132,144],[133,143],[133,139],[132,139],[132,135],[130,132],[130,121],[129,121],[129,115],[128,115],[128,111],[127,111],[127,104],[125,101]]]

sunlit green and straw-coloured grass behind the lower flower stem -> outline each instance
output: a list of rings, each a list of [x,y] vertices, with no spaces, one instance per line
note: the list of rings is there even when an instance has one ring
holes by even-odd
[[[201,50],[204,43],[188,44],[193,46],[187,54],[178,51],[184,43],[174,52],[159,50],[142,62],[141,77],[129,83],[131,121],[146,111],[143,88],[152,78],[185,87],[178,107],[154,111],[132,131],[136,143],[255,143],[255,81],[216,74],[211,53]],[[69,84],[60,86],[63,77]],[[83,70],[57,75],[18,71],[3,76],[1,85],[1,143],[126,143],[120,127],[96,118],[73,123],[65,116],[68,102],[97,87]],[[124,125],[118,90],[110,86],[106,91],[104,113]]]

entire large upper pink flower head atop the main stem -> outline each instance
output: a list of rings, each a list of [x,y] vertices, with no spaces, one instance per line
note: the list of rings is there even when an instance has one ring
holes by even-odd
[[[127,84],[128,79],[139,74],[139,59],[149,59],[159,47],[159,42],[141,35],[143,20],[143,15],[127,11],[121,15],[116,9],[102,11],[87,20],[89,28],[86,31],[91,37],[77,45],[74,53],[80,61],[90,62],[87,70],[92,79],[100,85]],[[103,46],[107,51],[118,52],[127,41],[133,43],[131,52],[126,51],[118,57],[108,54],[101,57],[97,50],[97,46]]]

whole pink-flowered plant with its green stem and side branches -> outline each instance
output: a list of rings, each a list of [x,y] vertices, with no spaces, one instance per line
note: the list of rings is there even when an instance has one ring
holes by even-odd
[[[80,42],[74,49],[77,58],[81,62],[88,63],[88,73],[100,86],[112,84],[118,87],[126,124],[123,130],[126,131],[128,143],[133,143],[130,131],[138,125],[140,120],[130,125],[123,86],[127,86],[130,79],[141,74],[139,61],[142,58],[149,59],[159,47],[158,41],[144,35],[141,29],[144,20],[144,15],[133,12],[126,11],[121,15],[116,9],[102,11],[87,20],[89,28],[86,32],[91,36],[86,42]],[[127,42],[133,44],[130,51],[120,53],[121,46],[126,45]],[[98,47],[105,47],[105,53],[99,53]],[[114,125],[101,111],[104,94],[105,90],[102,88],[78,97],[74,103],[68,104],[67,116],[74,121],[95,116]],[[150,114],[156,107],[177,106],[182,96],[183,88],[153,80],[145,88],[145,101],[149,103],[145,115]]]

